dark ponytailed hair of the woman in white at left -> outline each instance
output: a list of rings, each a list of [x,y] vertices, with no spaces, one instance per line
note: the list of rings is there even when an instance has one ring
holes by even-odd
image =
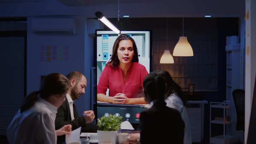
[[[30,109],[38,99],[37,95],[40,94],[40,97],[47,99],[50,95],[60,95],[67,92],[69,89],[69,80],[66,76],[60,73],[51,73],[45,77],[43,83],[41,84],[40,91],[30,93],[23,105],[20,107],[20,112]]]

